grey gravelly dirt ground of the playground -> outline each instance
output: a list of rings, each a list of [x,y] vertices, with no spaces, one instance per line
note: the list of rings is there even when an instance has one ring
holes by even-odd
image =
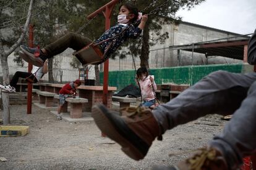
[[[155,140],[143,160],[134,161],[118,144],[101,137],[93,121],[58,121],[35,105],[31,115],[26,110],[26,105],[11,105],[11,124],[29,126],[30,132],[23,137],[0,137],[0,157],[7,159],[0,161],[0,169],[151,169],[171,165],[207,144],[226,123],[219,115],[208,115],[178,126],[167,131],[163,141]]]

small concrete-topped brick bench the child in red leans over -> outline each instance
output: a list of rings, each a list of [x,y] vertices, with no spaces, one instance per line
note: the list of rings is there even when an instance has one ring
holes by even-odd
[[[88,99],[67,97],[66,102],[70,103],[70,118],[82,118],[83,103]]]

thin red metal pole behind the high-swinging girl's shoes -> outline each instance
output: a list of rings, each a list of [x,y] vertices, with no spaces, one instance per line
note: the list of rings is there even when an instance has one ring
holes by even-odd
[[[29,37],[28,37],[28,46],[33,48],[34,47],[34,28],[33,25],[29,25]],[[28,63],[28,73],[32,71],[33,65]],[[32,113],[32,83],[28,83],[28,97],[27,97],[27,114]]]

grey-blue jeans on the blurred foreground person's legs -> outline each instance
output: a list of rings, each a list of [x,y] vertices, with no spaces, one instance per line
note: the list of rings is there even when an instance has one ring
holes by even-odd
[[[229,167],[235,169],[244,156],[256,151],[255,80],[256,73],[211,73],[153,110],[161,133],[207,114],[233,114],[223,133],[208,145],[220,150]]]

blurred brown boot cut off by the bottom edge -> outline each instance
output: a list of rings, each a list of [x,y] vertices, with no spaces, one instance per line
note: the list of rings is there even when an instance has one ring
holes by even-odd
[[[213,170],[213,169],[230,169],[226,161],[224,160],[224,156],[220,151],[215,148],[199,148],[197,152],[187,158],[179,162],[175,166],[171,167],[155,167],[152,170],[187,170],[187,169],[203,169],[203,170]]]

